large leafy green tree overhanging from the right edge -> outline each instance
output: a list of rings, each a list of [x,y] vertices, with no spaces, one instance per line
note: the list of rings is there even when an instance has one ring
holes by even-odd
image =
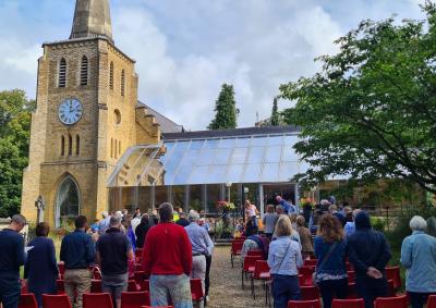
[[[318,58],[312,77],[281,85],[284,111],[301,127],[294,148],[307,185],[335,175],[356,182],[407,178],[436,193],[436,8],[426,21],[363,21]]]

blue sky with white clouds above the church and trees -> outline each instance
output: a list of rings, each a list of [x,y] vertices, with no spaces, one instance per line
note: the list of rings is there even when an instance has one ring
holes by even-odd
[[[423,19],[421,0],[110,0],[116,45],[136,60],[138,99],[186,130],[214,118],[234,86],[239,127],[270,115],[280,84],[311,76],[314,59],[362,20]],[[68,39],[75,0],[0,0],[0,90],[36,96],[41,44]],[[290,106],[280,101],[279,109]]]

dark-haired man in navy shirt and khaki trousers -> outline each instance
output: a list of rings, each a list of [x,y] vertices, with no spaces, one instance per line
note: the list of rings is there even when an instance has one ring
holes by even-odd
[[[82,297],[90,291],[90,271],[88,267],[95,261],[94,242],[89,234],[86,217],[78,215],[75,221],[75,231],[65,235],[61,244],[60,259],[65,263],[65,293],[76,308],[82,308]]]

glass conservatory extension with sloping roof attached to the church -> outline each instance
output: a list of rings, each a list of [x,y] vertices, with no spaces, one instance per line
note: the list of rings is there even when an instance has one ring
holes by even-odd
[[[129,148],[108,180],[109,209],[143,211],[170,201],[187,211],[215,213],[219,200],[261,212],[275,196],[298,200],[291,178],[305,170],[292,146],[298,133],[166,139]]]

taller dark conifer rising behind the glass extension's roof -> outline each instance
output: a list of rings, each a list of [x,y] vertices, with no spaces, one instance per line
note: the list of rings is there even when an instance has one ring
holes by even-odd
[[[218,99],[215,102],[215,119],[210,122],[208,130],[237,128],[237,101],[232,85],[223,84]]]

